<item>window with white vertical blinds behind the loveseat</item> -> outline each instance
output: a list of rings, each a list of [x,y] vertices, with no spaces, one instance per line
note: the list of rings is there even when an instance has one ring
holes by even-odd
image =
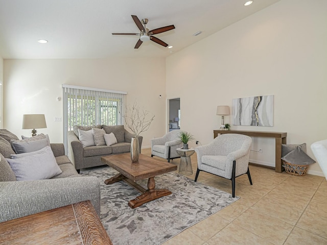
[[[71,85],[63,87],[64,144],[67,132],[75,125],[123,125],[127,92],[86,88]]]

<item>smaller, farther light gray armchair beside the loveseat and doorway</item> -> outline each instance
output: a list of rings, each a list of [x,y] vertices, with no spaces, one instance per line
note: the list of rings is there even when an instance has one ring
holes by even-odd
[[[180,158],[176,152],[177,148],[183,147],[183,143],[179,140],[178,134],[180,130],[168,132],[160,138],[151,139],[151,157],[157,156],[170,159]]]

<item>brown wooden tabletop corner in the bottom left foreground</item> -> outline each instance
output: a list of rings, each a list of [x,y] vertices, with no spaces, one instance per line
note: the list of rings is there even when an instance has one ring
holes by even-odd
[[[0,243],[112,245],[90,201],[0,223]]]

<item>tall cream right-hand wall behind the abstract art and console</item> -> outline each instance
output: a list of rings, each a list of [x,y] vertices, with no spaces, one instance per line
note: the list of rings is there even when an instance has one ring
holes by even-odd
[[[274,126],[287,143],[327,138],[327,1],[282,0],[167,58],[167,97],[180,96],[183,129],[206,144],[232,99],[274,95]],[[192,38],[192,37],[190,37]],[[231,122],[225,116],[225,122]],[[274,165],[274,140],[256,138],[256,162]],[[317,163],[310,174],[322,175]]]

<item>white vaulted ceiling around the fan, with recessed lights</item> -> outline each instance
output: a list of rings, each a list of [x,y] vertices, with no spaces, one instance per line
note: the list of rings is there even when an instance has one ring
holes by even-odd
[[[0,0],[0,56],[4,59],[167,57],[279,0]],[[154,35],[173,48],[144,42],[131,15],[148,18]],[[193,36],[201,31],[202,34]],[[49,42],[40,44],[39,39]]]

